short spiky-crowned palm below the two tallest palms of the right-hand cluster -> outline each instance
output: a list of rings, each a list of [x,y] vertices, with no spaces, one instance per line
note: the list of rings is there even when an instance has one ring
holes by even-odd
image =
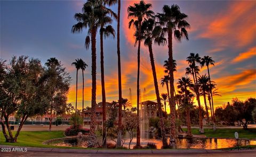
[[[208,107],[207,107],[207,103],[206,103],[206,91],[208,86],[208,81],[209,81],[209,77],[206,75],[202,75],[198,77],[198,85],[199,85],[199,90],[201,91],[201,95],[203,95],[204,97],[204,105],[205,105],[205,110],[206,110],[206,117],[207,117],[207,121],[209,123],[209,112],[208,112]]]

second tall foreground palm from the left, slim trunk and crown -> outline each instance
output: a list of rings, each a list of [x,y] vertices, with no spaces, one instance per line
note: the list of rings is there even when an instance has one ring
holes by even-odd
[[[105,92],[105,79],[104,79],[104,53],[103,53],[103,36],[105,39],[110,35],[115,38],[115,30],[111,25],[112,19],[110,16],[117,18],[117,15],[106,5],[111,5],[111,2],[106,0],[101,0],[101,8],[103,11],[100,17],[100,73],[101,73],[101,94],[102,94],[102,147],[107,148],[107,130],[106,130],[106,92]],[[107,26],[106,26],[107,25]]]

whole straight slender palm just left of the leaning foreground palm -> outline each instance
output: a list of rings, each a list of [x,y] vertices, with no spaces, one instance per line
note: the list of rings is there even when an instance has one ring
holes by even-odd
[[[135,18],[131,19],[131,21],[129,22],[129,29],[131,28],[131,25],[133,24],[135,26],[135,28],[137,29],[137,40],[135,41],[135,45],[138,41],[138,70],[137,70],[137,118],[139,121],[139,113],[140,113],[140,43],[141,43],[141,22],[143,20],[144,17],[151,17],[154,15],[154,12],[149,10],[152,7],[151,4],[145,4],[144,1],[140,1],[140,3],[134,3],[133,6],[129,6],[127,8],[127,12],[128,12],[128,18]],[[140,146],[140,123],[138,123],[137,125],[137,142],[136,142],[136,146],[139,147]]]

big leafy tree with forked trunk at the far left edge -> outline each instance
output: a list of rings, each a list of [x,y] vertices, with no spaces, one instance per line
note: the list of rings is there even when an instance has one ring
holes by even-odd
[[[41,80],[43,72],[39,59],[14,56],[8,65],[0,60],[0,123],[6,142],[17,142],[27,118],[43,115],[49,107],[47,86]],[[15,135],[9,124],[9,116],[12,114],[20,119]]]

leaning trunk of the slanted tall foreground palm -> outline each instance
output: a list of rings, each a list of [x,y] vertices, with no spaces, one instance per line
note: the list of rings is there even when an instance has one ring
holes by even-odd
[[[152,73],[153,73],[153,79],[154,79],[154,85],[155,85],[156,100],[157,100],[157,104],[158,104],[158,113],[159,113],[159,119],[160,119],[160,128],[161,128],[161,133],[162,133],[163,148],[167,148],[168,144],[167,144],[167,138],[165,135],[165,127],[164,127],[165,125],[164,125],[163,111],[162,111],[162,106],[161,106],[161,98],[159,95],[158,84],[157,84],[156,67],[155,67],[155,63],[154,63],[152,43],[149,43],[148,50],[149,50],[150,63],[151,63],[151,67],[152,67]]]

